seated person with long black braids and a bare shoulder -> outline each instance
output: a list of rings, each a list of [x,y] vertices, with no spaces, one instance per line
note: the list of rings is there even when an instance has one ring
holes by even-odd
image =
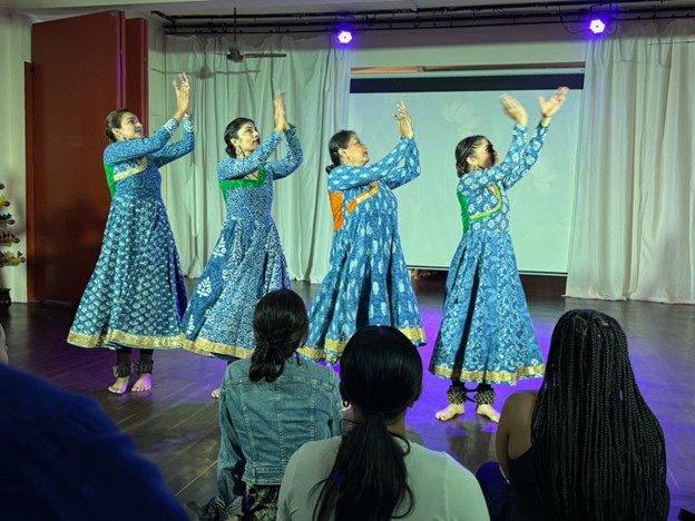
[[[478,471],[492,520],[667,518],[664,434],[615,318],[560,317],[540,390],[505,403],[497,456]]]

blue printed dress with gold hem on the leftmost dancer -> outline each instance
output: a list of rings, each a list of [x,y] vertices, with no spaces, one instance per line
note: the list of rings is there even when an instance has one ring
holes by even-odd
[[[101,253],[80,301],[68,342],[81,347],[179,348],[186,286],[161,200],[158,168],[194,148],[193,121],[169,119],[153,137],[112,142],[104,164],[112,171]]]

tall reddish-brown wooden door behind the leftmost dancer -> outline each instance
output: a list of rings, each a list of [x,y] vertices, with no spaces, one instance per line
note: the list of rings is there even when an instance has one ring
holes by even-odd
[[[130,108],[146,118],[147,26],[134,35],[131,53],[141,57],[133,59],[140,71],[134,76],[141,81],[129,89]],[[126,20],[121,11],[108,11],[37,23],[31,45],[30,293],[39,301],[77,303],[95,268],[110,205],[104,121],[127,101]]]

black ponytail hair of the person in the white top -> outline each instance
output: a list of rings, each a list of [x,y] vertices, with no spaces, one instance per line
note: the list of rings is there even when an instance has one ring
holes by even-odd
[[[410,444],[386,426],[420,396],[418,350],[393,327],[370,326],[348,342],[340,367],[343,397],[363,421],[343,435],[331,473],[312,489],[321,489],[313,519],[325,521],[333,512],[335,521],[404,517],[415,501],[404,461]]]

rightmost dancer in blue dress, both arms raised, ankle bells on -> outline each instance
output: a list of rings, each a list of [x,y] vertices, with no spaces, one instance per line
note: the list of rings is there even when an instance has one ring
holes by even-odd
[[[463,237],[447,277],[444,313],[430,371],[451,380],[449,405],[438,420],[463,414],[468,390],[477,382],[476,412],[493,422],[493,383],[515,385],[519,379],[541,377],[542,356],[528,311],[509,235],[507,193],[534,166],[548,125],[565,101],[560,87],[546,100],[539,97],[541,119],[527,139],[527,114],[512,97],[502,96],[505,114],[516,122],[511,148],[499,156],[484,136],[470,136],[456,148],[457,195]]]

